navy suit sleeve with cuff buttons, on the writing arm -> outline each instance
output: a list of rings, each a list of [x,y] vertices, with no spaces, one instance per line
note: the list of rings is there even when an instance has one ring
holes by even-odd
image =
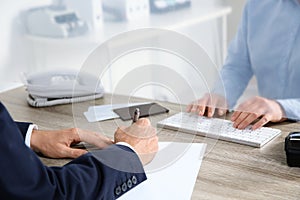
[[[43,165],[1,103],[0,131],[1,199],[116,199],[146,180],[138,156],[119,145]]]

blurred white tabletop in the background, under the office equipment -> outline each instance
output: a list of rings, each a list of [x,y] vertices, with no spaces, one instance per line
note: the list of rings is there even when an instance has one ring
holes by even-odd
[[[191,7],[166,13],[150,14],[147,18],[131,21],[104,21],[96,34],[86,34],[73,38],[50,38],[26,35],[28,39],[39,43],[64,45],[97,45],[126,31],[140,28],[163,28],[179,30],[209,20],[227,17],[232,11],[229,6],[212,6],[203,1],[193,1]]]

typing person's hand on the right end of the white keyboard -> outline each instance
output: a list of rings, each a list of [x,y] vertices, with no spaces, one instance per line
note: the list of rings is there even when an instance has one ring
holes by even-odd
[[[281,122],[284,118],[284,111],[281,106],[274,100],[254,97],[237,107],[231,117],[234,122],[233,126],[238,129],[244,129],[255,120],[259,119],[252,129],[258,129],[268,122]]]

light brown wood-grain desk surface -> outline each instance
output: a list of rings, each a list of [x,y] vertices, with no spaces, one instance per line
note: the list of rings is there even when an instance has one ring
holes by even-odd
[[[34,122],[40,129],[76,126],[101,131],[111,137],[118,125],[129,122],[110,120],[88,123],[83,112],[90,105],[110,103],[112,99],[113,103],[128,100],[125,97],[111,98],[107,95],[95,102],[37,109],[27,105],[24,88],[0,93],[0,101],[6,105],[15,120]],[[163,105],[171,109],[170,114],[180,110],[173,104]],[[153,117],[151,122],[155,125],[157,120],[164,117],[166,115]],[[160,141],[207,143],[192,199],[300,199],[300,168],[286,165],[284,151],[284,138],[289,132],[300,130],[300,124],[286,122],[271,126],[281,129],[282,134],[260,149],[190,134],[174,134],[167,130],[158,130],[158,134]],[[46,165],[63,165],[69,161],[41,159]]]

